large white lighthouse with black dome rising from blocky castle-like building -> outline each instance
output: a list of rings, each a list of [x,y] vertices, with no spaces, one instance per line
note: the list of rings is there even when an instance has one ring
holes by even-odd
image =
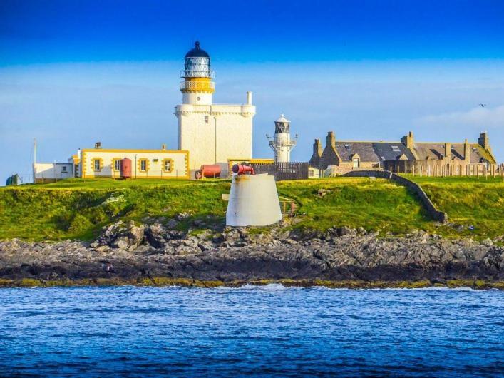
[[[252,158],[252,92],[243,103],[213,103],[214,71],[210,55],[196,41],[185,54],[180,82],[182,103],[175,106],[178,120],[178,149],[189,152],[187,167],[194,171],[204,164],[218,164],[227,175],[229,160]],[[192,173],[191,173],[192,174]]]

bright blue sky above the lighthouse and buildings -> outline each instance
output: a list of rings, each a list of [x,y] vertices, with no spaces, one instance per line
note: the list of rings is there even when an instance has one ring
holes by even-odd
[[[313,138],[475,141],[504,160],[504,1],[0,2],[0,183],[38,160],[176,147],[178,73],[195,39],[215,102],[254,92],[254,155],[285,113]],[[486,103],[478,108],[478,103]]]

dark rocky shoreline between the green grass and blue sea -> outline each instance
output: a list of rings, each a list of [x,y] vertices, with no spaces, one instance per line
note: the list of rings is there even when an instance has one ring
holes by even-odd
[[[181,215],[183,218],[183,215]],[[176,230],[179,220],[103,228],[95,242],[0,242],[0,287],[245,283],[328,287],[504,288],[498,240],[447,240],[418,231],[378,237],[363,229],[295,233],[278,225]]]

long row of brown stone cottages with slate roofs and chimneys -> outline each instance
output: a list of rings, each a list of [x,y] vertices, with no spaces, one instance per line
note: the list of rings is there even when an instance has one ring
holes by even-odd
[[[331,174],[351,170],[383,169],[425,175],[478,175],[493,173],[497,161],[488,133],[478,143],[417,142],[410,131],[401,141],[337,141],[334,132],[326,136],[325,148],[315,139],[309,166]]]

